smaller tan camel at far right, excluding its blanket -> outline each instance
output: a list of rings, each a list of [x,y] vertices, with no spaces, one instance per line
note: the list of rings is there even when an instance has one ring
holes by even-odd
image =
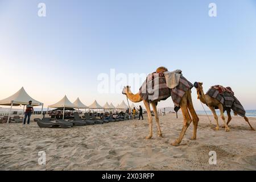
[[[229,122],[231,121],[232,117],[231,117],[231,109],[226,109],[226,112],[228,114],[228,122],[226,123],[225,122],[225,116],[224,116],[224,106],[221,104],[221,102],[217,101],[215,98],[212,98],[208,95],[205,95],[204,94],[204,90],[203,90],[203,82],[197,82],[198,84],[198,87],[196,88],[196,91],[197,91],[197,99],[199,99],[201,102],[203,102],[203,104],[206,104],[209,109],[212,111],[213,115],[214,115],[214,119],[217,123],[217,126],[216,126],[216,130],[219,130],[219,125],[218,125],[218,116],[216,114],[216,111],[215,111],[215,108],[218,107],[218,109],[220,109],[220,115],[221,115],[221,119],[223,120],[224,122],[224,126],[223,128],[225,128],[225,131],[230,131],[229,129]],[[235,112],[234,112],[234,115],[237,115]],[[250,125],[249,123],[249,119],[245,116],[244,117],[245,121],[249,124],[249,126],[251,127],[251,130],[254,130],[254,128]]]

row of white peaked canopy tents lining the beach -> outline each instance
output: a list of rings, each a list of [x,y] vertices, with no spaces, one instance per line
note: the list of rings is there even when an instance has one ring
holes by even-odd
[[[30,97],[26,90],[24,90],[24,88],[22,87],[21,89],[18,90],[18,92],[16,92],[15,94],[13,94],[10,97],[7,97],[3,100],[0,100],[0,105],[3,106],[10,106],[10,111],[9,111],[9,117],[7,119],[7,122],[9,122],[10,119],[10,115],[11,115],[11,110],[13,109],[13,106],[20,106],[23,105],[23,113],[24,113],[24,106],[28,104],[28,101],[32,101],[32,105],[33,106],[42,106],[42,110],[41,110],[41,117],[42,117],[42,113],[43,113],[43,107],[44,104],[43,102],[39,102],[34,100],[34,98]],[[84,105],[79,98],[77,98],[77,100],[75,102],[71,102],[68,100],[67,96],[64,96],[59,102],[56,102],[55,104],[49,105],[49,108],[61,108],[63,109],[63,113],[65,112],[65,110],[68,110],[69,108],[75,108],[75,109],[104,109],[104,110],[126,110],[129,106],[127,106],[125,104],[125,101],[122,101],[121,104],[114,106],[112,103],[108,104],[108,102],[106,102],[106,104],[104,106],[101,106],[100,104],[98,104],[98,102],[95,100],[91,105],[86,106]],[[130,108],[137,108],[134,104],[130,105]],[[64,114],[63,114],[64,117]]]

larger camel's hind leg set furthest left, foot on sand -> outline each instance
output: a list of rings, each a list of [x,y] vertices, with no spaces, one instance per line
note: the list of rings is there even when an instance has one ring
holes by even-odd
[[[192,119],[191,119],[191,117],[189,115],[189,112],[188,112],[188,108],[187,108],[187,94],[185,94],[183,96],[183,98],[181,99],[181,101],[180,101],[180,108],[181,108],[181,111],[182,111],[182,114],[183,114],[183,118],[184,118],[183,128],[181,130],[179,138],[177,138],[175,140],[175,142],[172,143],[173,146],[179,146],[181,140],[184,137],[185,132],[188,129],[188,126],[190,125],[190,123],[192,121]]]

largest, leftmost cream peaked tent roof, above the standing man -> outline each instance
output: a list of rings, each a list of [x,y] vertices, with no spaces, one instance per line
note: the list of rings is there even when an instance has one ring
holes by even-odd
[[[30,97],[23,87],[19,89],[18,92],[16,92],[12,96],[1,100],[0,105],[10,106],[12,101],[13,101],[13,106],[27,105],[28,101],[32,101],[33,106],[43,105],[42,102],[36,101],[34,100],[34,98]]]

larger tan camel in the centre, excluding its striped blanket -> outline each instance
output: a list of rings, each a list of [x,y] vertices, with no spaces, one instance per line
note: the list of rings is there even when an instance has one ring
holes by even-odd
[[[156,73],[160,73],[160,72],[166,72],[168,71],[167,68],[164,67],[159,67],[158,69],[156,69]],[[127,98],[129,98],[130,101],[132,102],[141,102],[143,101],[146,110],[147,110],[147,115],[148,115],[148,123],[149,123],[149,135],[146,137],[146,139],[151,139],[152,138],[152,115],[151,115],[151,110],[150,110],[150,104],[152,106],[152,109],[154,111],[155,114],[155,121],[156,121],[156,125],[158,127],[158,137],[163,137],[162,135],[162,131],[160,129],[160,123],[159,123],[159,117],[158,117],[158,111],[156,109],[156,105],[157,102],[151,102],[149,103],[146,100],[142,100],[141,96],[139,95],[139,93],[137,94],[133,94],[130,90],[130,86],[125,86],[125,88],[123,88],[123,94],[125,94],[127,96]],[[181,133],[179,135],[179,138],[177,138],[174,142],[171,143],[172,146],[179,146],[179,144],[181,143],[181,140],[184,137],[185,132],[187,131],[190,123],[193,121],[193,137],[191,138],[191,140],[196,140],[196,131],[197,131],[197,124],[199,122],[199,118],[197,117],[196,111],[193,107],[193,103],[192,103],[192,98],[191,98],[191,90],[189,89],[184,96],[181,98],[180,101],[180,107],[181,107],[181,111],[183,114],[183,128],[181,130]],[[192,115],[192,119],[191,119],[191,115]]]

